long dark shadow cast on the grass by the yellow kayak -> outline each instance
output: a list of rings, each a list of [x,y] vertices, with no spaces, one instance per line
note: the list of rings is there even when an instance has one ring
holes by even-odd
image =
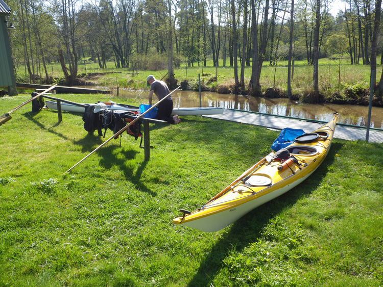
[[[333,142],[325,161],[308,179],[278,198],[255,208],[255,210],[227,228],[227,233],[206,255],[197,274],[190,280],[188,286],[211,286],[211,282],[219,274],[220,268],[224,267],[223,260],[229,252],[233,249],[241,252],[241,250],[259,240],[262,229],[267,226],[272,218],[280,214],[286,207],[294,205],[303,196],[312,193],[320,185],[327,173],[327,168],[333,163],[336,153],[343,146],[342,143]],[[307,182],[308,180],[309,182]]]

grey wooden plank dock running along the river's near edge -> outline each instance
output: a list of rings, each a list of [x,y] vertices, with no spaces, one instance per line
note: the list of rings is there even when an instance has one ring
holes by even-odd
[[[225,110],[221,115],[206,115],[204,117],[216,118],[221,120],[235,121],[247,124],[264,126],[281,130],[285,127],[301,128],[306,133],[315,131],[323,123],[308,122],[299,119],[281,118],[276,116],[260,115],[256,113],[247,113],[244,111]],[[365,128],[353,128],[337,125],[334,138],[342,140],[366,140],[367,130]],[[369,133],[369,142],[383,143],[383,132],[372,131]]]

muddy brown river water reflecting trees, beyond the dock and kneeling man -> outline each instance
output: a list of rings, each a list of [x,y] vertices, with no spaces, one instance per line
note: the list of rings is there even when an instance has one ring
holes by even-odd
[[[136,98],[148,103],[149,91],[119,89],[119,97]],[[195,91],[175,91],[172,94],[174,108],[200,107],[199,93]],[[357,126],[367,126],[368,107],[336,105],[332,103],[299,103],[285,98],[263,98],[233,94],[201,92],[201,107],[223,107],[243,111],[260,112],[300,119],[329,121],[338,112],[338,122]],[[383,108],[372,107],[370,127],[383,128]]]

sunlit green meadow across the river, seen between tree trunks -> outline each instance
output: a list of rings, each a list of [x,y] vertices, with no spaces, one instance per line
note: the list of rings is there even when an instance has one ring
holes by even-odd
[[[148,58],[148,57],[143,57]],[[144,60],[145,60],[144,59]],[[142,60],[143,61],[143,60]],[[377,60],[380,63],[380,59]],[[131,68],[116,68],[114,62],[108,62],[106,69],[100,69],[98,63],[81,60],[79,63],[78,74],[89,74],[98,72],[112,72],[95,80],[90,80],[104,87],[120,87],[130,89],[145,89],[146,77],[153,74],[157,79],[161,79],[167,70],[138,70],[138,74],[132,76]],[[222,65],[222,59],[220,59]],[[199,66],[194,63],[194,67],[187,67],[186,63],[181,63],[180,68],[175,68],[175,77],[178,83],[187,80],[190,86],[196,87],[198,83],[198,74],[201,75],[201,81],[209,87],[227,87],[234,85],[234,68],[229,66],[229,61],[226,61],[226,67],[217,68],[217,82],[212,81],[216,76],[216,67],[213,67],[212,60],[207,61],[207,66]],[[351,65],[348,57],[343,57],[341,64],[341,76],[339,85],[339,60],[334,58],[324,58],[319,60],[319,90],[324,95],[329,95],[334,92],[340,92],[350,86],[361,85],[363,88],[369,88],[370,82],[370,66],[369,65]],[[268,61],[264,62],[260,76],[261,91],[265,92],[267,88],[275,87],[281,91],[287,90],[287,70],[288,62],[280,61],[276,66],[270,66]],[[47,71],[50,76],[56,79],[63,77],[61,66],[59,63],[47,65]],[[115,73],[113,73],[115,72]],[[240,76],[241,67],[238,62],[238,77]],[[25,79],[25,69],[19,67],[17,69],[19,79]],[[380,79],[381,66],[377,66],[377,81]],[[245,68],[245,82],[249,84],[251,77],[251,67]],[[275,77],[275,79],[274,79]],[[306,60],[295,61],[294,77],[292,80],[292,89],[294,94],[307,94],[313,91],[313,66],[307,65]],[[223,90],[223,89],[221,89]]]

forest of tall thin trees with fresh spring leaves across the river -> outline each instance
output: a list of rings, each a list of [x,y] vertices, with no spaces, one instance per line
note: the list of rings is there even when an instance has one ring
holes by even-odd
[[[383,54],[383,41],[381,0],[338,3],[344,10],[336,16],[330,13],[328,0],[10,0],[7,4],[12,9],[8,21],[17,27],[9,30],[17,82],[76,85],[84,76],[79,66],[86,71],[92,63],[105,71],[167,70],[166,81],[174,87],[181,80],[175,79],[175,68],[187,74],[188,67],[202,71],[210,67],[216,76],[212,72],[208,83],[214,83],[217,73],[231,67],[224,73],[229,88],[221,91],[259,95],[267,92],[260,84],[262,67],[269,65],[275,67],[272,93],[289,98],[303,94],[307,101],[318,102],[328,90],[333,102],[342,102],[358,92],[366,98],[370,85],[370,79],[351,87],[342,83],[344,73],[350,73],[345,65],[376,75],[376,55]],[[321,83],[319,65],[328,62],[320,59],[328,59],[337,70],[331,84]],[[50,71],[52,64],[60,67],[60,74],[54,74],[53,66]],[[283,87],[275,83],[278,64],[287,67]],[[292,87],[294,66],[305,67],[300,93]],[[376,76],[373,86],[375,81]],[[381,106],[383,78],[377,88],[374,100]]]

